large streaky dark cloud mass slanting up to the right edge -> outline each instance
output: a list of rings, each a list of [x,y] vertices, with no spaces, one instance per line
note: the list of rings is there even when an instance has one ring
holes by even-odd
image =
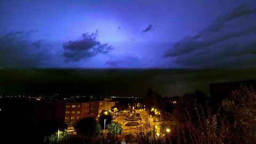
[[[255,66],[256,4],[243,4],[165,52],[186,67]]]

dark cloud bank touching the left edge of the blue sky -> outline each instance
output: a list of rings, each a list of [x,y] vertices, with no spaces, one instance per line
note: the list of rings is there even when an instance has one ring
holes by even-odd
[[[36,31],[16,31],[0,37],[0,67],[45,67],[50,57],[43,40],[31,40]]]

